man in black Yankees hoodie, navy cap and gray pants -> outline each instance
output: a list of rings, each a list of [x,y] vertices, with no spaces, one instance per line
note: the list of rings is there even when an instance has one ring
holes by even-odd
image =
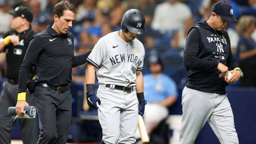
[[[243,76],[230,49],[230,40],[223,31],[228,22],[237,22],[233,8],[217,2],[208,21],[201,20],[190,29],[184,50],[188,71],[182,93],[182,128],[180,144],[194,143],[206,121],[220,143],[238,144],[234,116],[225,92]]]

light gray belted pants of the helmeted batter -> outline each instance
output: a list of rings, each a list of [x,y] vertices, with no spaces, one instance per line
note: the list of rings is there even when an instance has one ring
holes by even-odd
[[[138,126],[136,91],[124,92],[99,86],[98,117],[105,144],[133,144]]]

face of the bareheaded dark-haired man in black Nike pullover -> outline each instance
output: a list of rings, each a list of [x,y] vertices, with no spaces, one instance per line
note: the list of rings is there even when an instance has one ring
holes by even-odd
[[[71,10],[64,10],[63,16],[59,17],[54,15],[54,23],[58,29],[58,33],[66,34],[72,27],[72,22],[75,19],[75,13]]]

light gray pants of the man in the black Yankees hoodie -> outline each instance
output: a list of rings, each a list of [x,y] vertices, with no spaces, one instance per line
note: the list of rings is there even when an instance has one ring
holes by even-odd
[[[238,144],[234,116],[227,95],[184,88],[180,144],[193,144],[206,121],[221,144]]]

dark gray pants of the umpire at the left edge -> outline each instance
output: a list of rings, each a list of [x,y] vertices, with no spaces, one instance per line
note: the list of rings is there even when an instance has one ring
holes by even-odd
[[[15,124],[8,115],[8,107],[16,106],[18,95],[18,84],[9,82],[3,83],[3,90],[0,95],[0,144],[11,143],[11,130]],[[26,93],[26,101],[30,106],[34,106],[33,96]],[[19,119],[20,133],[23,144],[35,144],[38,139],[37,118]]]

